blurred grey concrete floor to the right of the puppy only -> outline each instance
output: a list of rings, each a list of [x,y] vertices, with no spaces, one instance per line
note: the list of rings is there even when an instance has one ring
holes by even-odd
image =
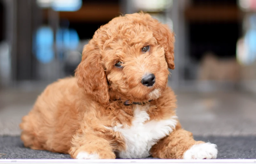
[[[177,115],[198,136],[256,135],[256,97],[249,93],[178,93]]]

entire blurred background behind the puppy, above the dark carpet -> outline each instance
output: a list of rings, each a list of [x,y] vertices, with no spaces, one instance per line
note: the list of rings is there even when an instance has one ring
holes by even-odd
[[[37,95],[74,74],[101,25],[141,10],[176,35],[169,85],[183,127],[256,135],[256,0],[0,0],[0,134],[20,134]]]

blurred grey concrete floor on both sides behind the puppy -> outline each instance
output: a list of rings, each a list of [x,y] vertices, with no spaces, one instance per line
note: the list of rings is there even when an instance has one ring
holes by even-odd
[[[21,117],[43,87],[0,91],[0,135],[19,135]],[[176,92],[177,115],[196,136],[256,135],[256,97],[238,91]]]

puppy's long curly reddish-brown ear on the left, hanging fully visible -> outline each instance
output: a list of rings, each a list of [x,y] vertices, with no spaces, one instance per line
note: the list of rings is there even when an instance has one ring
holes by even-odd
[[[75,76],[79,87],[92,95],[93,99],[100,104],[107,104],[109,101],[108,83],[106,72],[101,63],[99,49],[91,40],[84,46],[82,61],[76,69]]]

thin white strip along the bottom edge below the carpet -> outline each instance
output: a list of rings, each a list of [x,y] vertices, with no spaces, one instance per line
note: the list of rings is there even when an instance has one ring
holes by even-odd
[[[251,160],[155,160],[155,159],[141,159],[141,160],[136,160],[136,159],[129,159],[129,160],[124,160],[124,159],[115,159],[115,160],[0,160],[1,164],[10,164],[10,163],[15,163],[15,164],[23,164],[23,163],[29,163],[29,164],[34,164],[34,163],[47,163],[47,164],[63,164],[63,163],[74,163],[74,164],[85,164],[85,163],[114,163],[114,164],[121,164],[121,163],[172,163],[172,164],[186,164],[186,163],[211,163],[211,164],[255,164],[256,159],[251,159]]]

